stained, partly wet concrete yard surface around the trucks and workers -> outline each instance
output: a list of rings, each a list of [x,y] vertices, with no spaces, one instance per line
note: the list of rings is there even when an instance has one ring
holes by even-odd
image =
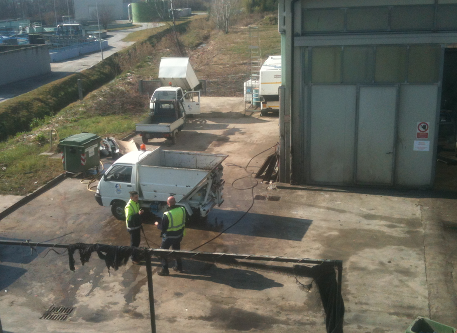
[[[244,116],[241,99],[204,98],[202,110],[189,119],[176,145],[158,139],[147,145],[229,155],[223,164],[225,201],[188,225],[182,249],[216,236],[254,203],[240,222],[198,251],[342,260],[346,332],[404,332],[418,315],[457,327],[455,195],[287,184],[270,190],[249,174],[273,152],[251,161],[277,143],[278,119]],[[150,246],[157,247],[161,238],[153,222],[144,229]],[[0,239],[130,244],[125,222],[98,206],[77,179],[1,220]],[[0,246],[5,331],[150,331],[144,266],[129,261],[108,272],[96,254],[84,266],[75,254],[73,273],[67,254],[56,251],[39,248],[31,255],[29,247]],[[159,269],[155,259],[153,272]],[[309,278],[191,260],[183,261],[183,269],[153,276],[158,332],[325,332],[317,287],[303,288]],[[68,321],[39,319],[52,304],[75,309]]]

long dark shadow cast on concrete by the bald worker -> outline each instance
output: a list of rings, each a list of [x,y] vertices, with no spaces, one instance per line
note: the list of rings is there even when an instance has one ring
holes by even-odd
[[[272,279],[266,278],[257,272],[237,268],[220,268],[212,264],[196,261],[183,261],[183,273],[174,273],[166,277],[189,280],[201,280],[224,284],[235,289],[265,290],[283,287]]]

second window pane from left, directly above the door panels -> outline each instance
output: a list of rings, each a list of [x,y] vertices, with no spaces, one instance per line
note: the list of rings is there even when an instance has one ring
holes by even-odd
[[[349,46],[343,51],[343,78],[345,83],[373,82],[375,51],[373,46]]]

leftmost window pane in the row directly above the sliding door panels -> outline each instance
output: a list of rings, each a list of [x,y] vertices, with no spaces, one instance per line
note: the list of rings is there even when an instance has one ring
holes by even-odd
[[[314,83],[341,82],[341,47],[314,47],[311,77]]]

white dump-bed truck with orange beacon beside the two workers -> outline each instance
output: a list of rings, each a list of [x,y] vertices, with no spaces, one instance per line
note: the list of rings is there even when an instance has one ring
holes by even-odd
[[[101,206],[111,206],[112,214],[124,220],[130,191],[139,193],[141,207],[159,216],[167,207],[168,197],[174,196],[189,215],[204,217],[223,202],[221,163],[225,158],[227,155],[162,148],[132,151],[106,171],[95,200]]]

